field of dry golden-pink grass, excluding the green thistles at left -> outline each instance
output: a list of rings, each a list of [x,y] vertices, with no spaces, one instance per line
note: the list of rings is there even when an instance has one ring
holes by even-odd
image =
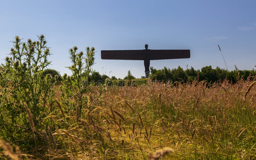
[[[148,159],[150,153],[164,148],[162,155],[173,151],[166,159],[253,159],[255,86],[243,100],[250,84],[240,80],[208,88],[196,81],[177,86],[148,81],[139,87],[102,90],[92,86],[91,92],[83,95],[86,105],[80,112],[66,108],[56,86],[54,103],[40,106],[46,108],[47,116],[38,122],[48,121],[49,128],[42,130],[35,123],[33,135],[30,128],[15,124],[29,141],[19,142],[24,144],[16,147],[16,152],[8,146],[15,148],[15,141],[1,141],[5,148],[1,157]],[[79,106],[76,96],[69,98],[73,106]],[[3,134],[1,137],[6,139]]]

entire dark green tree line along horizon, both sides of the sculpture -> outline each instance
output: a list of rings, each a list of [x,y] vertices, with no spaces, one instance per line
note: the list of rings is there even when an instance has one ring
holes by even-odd
[[[45,69],[43,71],[43,76],[46,76],[47,74],[51,74],[52,77],[55,75],[58,75],[59,81],[61,81],[61,76],[58,71],[55,69]],[[206,80],[209,83],[214,83],[216,81],[223,81],[224,79],[227,79],[229,82],[236,83],[239,79],[247,79],[248,77],[251,78],[251,80],[256,76],[256,70],[240,70],[236,68],[235,70],[228,71],[227,69],[223,69],[220,67],[212,68],[212,66],[205,66],[201,69],[195,70],[193,67],[187,68],[184,70],[180,66],[178,68],[167,68],[164,67],[163,69],[156,69],[153,67],[150,67],[150,75],[149,77],[152,80],[158,80],[158,81],[169,81],[171,83],[174,82],[181,82],[184,81],[185,83],[192,82],[194,80],[203,81]],[[72,79],[72,76],[71,76]],[[124,77],[124,79],[116,78],[115,76],[109,77],[106,74],[100,75],[99,72],[92,72],[88,76],[88,82],[89,83],[95,83],[95,84],[103,84],[105,83],[106,79],[108,81],[114,82],[125,82],[124,80],[132,80],[135,79],[134,76],[132,76],[131,71],[128,71],[127,76]]]

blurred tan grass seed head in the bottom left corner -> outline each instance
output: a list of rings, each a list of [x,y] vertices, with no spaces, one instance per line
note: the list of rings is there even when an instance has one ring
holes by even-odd
[[[12,146],[5,142],[4,140],[0,139],[0,147],[3,148],[3,153],[5,156],[8,156],[9,158],[13,160],[21,160],[22,154],[20,152],[20,147],[16,146],[16,153],[13,151]]]

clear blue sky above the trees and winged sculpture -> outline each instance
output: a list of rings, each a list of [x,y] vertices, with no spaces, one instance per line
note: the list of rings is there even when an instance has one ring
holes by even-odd
[[[0,62],[17,35],[36,40],[44,34],[52,65],[71,74],[68,49],[96,49],[93,68],[100,74],[124,78],[127,71],[143,76],[143,61],[101,60],[101,50],[190,49],[190,59],[154,60],[156,69],[200,69],[207,65],[229,70],[256,64],[255,0],[0,0]]]

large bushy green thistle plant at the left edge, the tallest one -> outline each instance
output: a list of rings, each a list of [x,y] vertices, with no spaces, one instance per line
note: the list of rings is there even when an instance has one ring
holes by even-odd
[[[47,111],[39,106],[45,106],[47,101],[52,100],[53,83],[49,77],[42,78],[42,71],[51,63],[48,61],[50,49],[46,46],[44,35],[37,38],[34,42],[31,39],[22,42],[22,39],[16,36],[12,41],[10,56],[5,58],[5,64],[2,66],[4,71],[1,71],[0,85],[4,92],[0,97],[0,126],[3,126],[4,130],[1,129],[0,134],[8,140],[30,139],[28,134],[32,131],[27,133],[23,129],[30,128],[24,103],[28,105],[37,129],[47,125],[47,121],[42,122]],[[23,128],[17,127],[17,124]],[[15,134],[16,132],[19,134]]]

